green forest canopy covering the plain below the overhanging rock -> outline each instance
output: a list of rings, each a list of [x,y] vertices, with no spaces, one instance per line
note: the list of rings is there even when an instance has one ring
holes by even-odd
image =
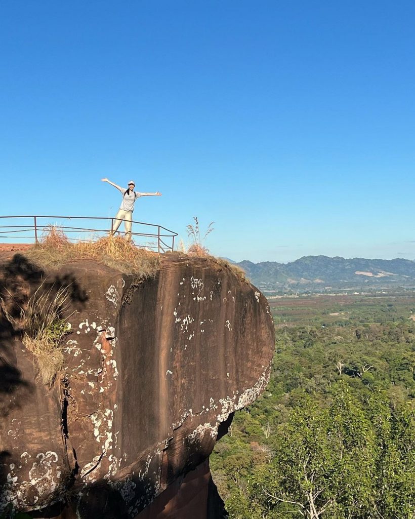
[[[231,519],[415,517],[413,302],[273,305],[270,383],[211,456]]]

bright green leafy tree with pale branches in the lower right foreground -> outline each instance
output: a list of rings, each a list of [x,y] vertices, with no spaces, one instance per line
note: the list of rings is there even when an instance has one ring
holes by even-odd
[[[306,519],[408,519],[415,510],[413,408],[384,393],[365,408],[340,384],[322,409],[304,395],[257,473],[262,506]]]

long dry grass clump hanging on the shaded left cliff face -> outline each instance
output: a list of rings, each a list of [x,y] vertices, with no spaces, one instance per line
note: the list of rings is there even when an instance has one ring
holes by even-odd
[[[20,316],[13,318],[2,302],[5,316],[13,328],[22,333],[22,343],[33,353],[41,381],[51,386],[62,369],[63,339],[69,333],[66,319],[70,307],[70,289],[45,288],[42,283],[24,306],[19,305]]]

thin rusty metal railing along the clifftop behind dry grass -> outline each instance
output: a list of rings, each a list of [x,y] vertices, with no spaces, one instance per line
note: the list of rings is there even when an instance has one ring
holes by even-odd
[[[76,220],[74,224],[82,220],[93,222],[88,227],[75,227],[67,225],[71,220]],[[0,216],[0,239],[14,240],[10,243],[39,243],[42,236],[47,234],[53,226],[62,231],[71,242],[92,241],[113,233],[116,221],[122,224],[122,220],[110,216]],[[13,225],[16,222],[18,225]],[[141,232],[131,232],[131,240],[137,247],[155,249],[158,252],[174,250],[174,238],[177,236],[174,231],[162,225],[145,222],[133,221],[132,225],[132,229],[140,226]],[[117,230],[115,234],[124,233]]]

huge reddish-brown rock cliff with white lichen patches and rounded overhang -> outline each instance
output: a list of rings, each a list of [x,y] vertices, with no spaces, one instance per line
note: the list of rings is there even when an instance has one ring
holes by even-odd
[[[3,295],[23,300],[44,277],[3,258]],[[226,265],[174,254],[144,282],[89,261],[46,282],[68,286],[75,311],[53,388],[1,316],[0,513],[218,517],[209,455],[267,384],[264,296]]]

